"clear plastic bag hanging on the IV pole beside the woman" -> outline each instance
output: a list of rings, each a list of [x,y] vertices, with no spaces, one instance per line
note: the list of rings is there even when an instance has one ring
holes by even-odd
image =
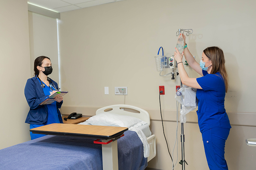
[[[181,104],[180,122],[186,123],[186,114],[197,107],[196,88],[184,85],[175,94],[175,99]]]

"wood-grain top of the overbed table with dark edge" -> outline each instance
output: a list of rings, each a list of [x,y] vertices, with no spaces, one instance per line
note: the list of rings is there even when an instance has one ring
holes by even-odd
[[[29,131],[45,135],[112,139],[122,135],[126,130],[128,130],[126,127],[53,123],[38,128],[33,128]]]

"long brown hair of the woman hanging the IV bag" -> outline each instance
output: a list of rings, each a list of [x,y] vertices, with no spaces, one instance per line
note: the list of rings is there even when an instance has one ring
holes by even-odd
[[[220,72],[225,82],[225,89],[228,92],[228,74],[225,67],[225,58],[220,47],[208,47],[204,49],[204,54],[212,60],[212,71],[210,74]]]

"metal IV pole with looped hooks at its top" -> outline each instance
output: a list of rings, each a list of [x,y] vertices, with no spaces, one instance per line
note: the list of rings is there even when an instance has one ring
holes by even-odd
[[[187,31],[185,31],[187,30]],[[191,31],[192,32],[191,32]],[[187,36],[191,33],[193,33],[193,30],[192,29],[179,29],[177,31],[177,33],[179,33],[178,35],[180,35],[181,31],[184,31],[187,32]],[[178,36],[176,33],[176,36]],[[181,79],[180,79],[180,88],[182,87],[182,82],[181,82]],[[180,109],[182,109],[182,106],[180,105]],[[185,170],[185,163],[188,165],[188,163],[186,162],[185,160],[185,135],[184,135],[184,129],[183,129],[183,123],[181,123],[181,134],[180,134],[180,142],[181,142],[181,160],[179,162],[179,164],[182,165],[182,170]]]

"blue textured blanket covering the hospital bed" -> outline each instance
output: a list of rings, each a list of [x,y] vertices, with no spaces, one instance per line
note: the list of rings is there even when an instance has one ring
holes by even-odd
[[[101,144],[95,139],[47,135],[0,150],[0,169],[102,170]],[[148,159],[134,131],[117,140],[119,170],[144,170]]]

